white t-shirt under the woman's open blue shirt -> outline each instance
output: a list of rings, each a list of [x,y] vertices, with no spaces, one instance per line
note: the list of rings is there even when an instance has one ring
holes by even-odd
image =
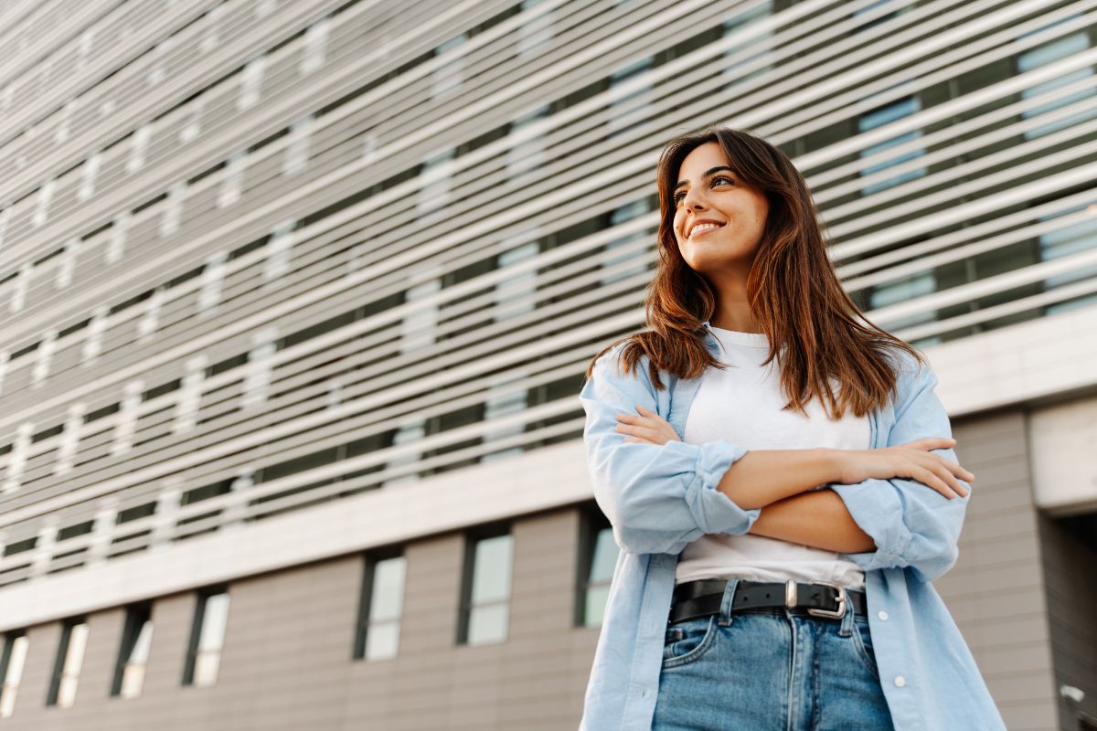
[[[805,406],[810,419],[782,411],[785,398],[777,358],[762,366],[769,341],[762,333],[713,328],[724,347],[724,369],[708,368],[686,420],[685,442],[727,439],[747,449],[868,449],[868,416],[851,410],[832,421],[823,404]],[[837,381],[832,381],[837,386]],[[838,390],[835,390],[837,395]],[[765,509],[762,509],[765,511]],[[682,549],[676,583],[738,576],[750,581],[832,581],[864,586],[864,571],[835,551],[744,534],[709,534]]]

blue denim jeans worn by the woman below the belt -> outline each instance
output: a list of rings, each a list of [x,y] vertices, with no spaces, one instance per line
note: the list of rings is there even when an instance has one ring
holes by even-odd
[[[798,607],[731,612],[667,626],[652,731],[890,731],[869,620]]]

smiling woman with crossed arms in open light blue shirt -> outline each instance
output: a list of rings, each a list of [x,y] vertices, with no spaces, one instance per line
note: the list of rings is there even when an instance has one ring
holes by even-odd
[[[579,395],[622,548],[580,729],[1005,729],[929,583],[974,480],[932,370],[858,311],[772,145],[677,137],[657,176],[651,329]]]

